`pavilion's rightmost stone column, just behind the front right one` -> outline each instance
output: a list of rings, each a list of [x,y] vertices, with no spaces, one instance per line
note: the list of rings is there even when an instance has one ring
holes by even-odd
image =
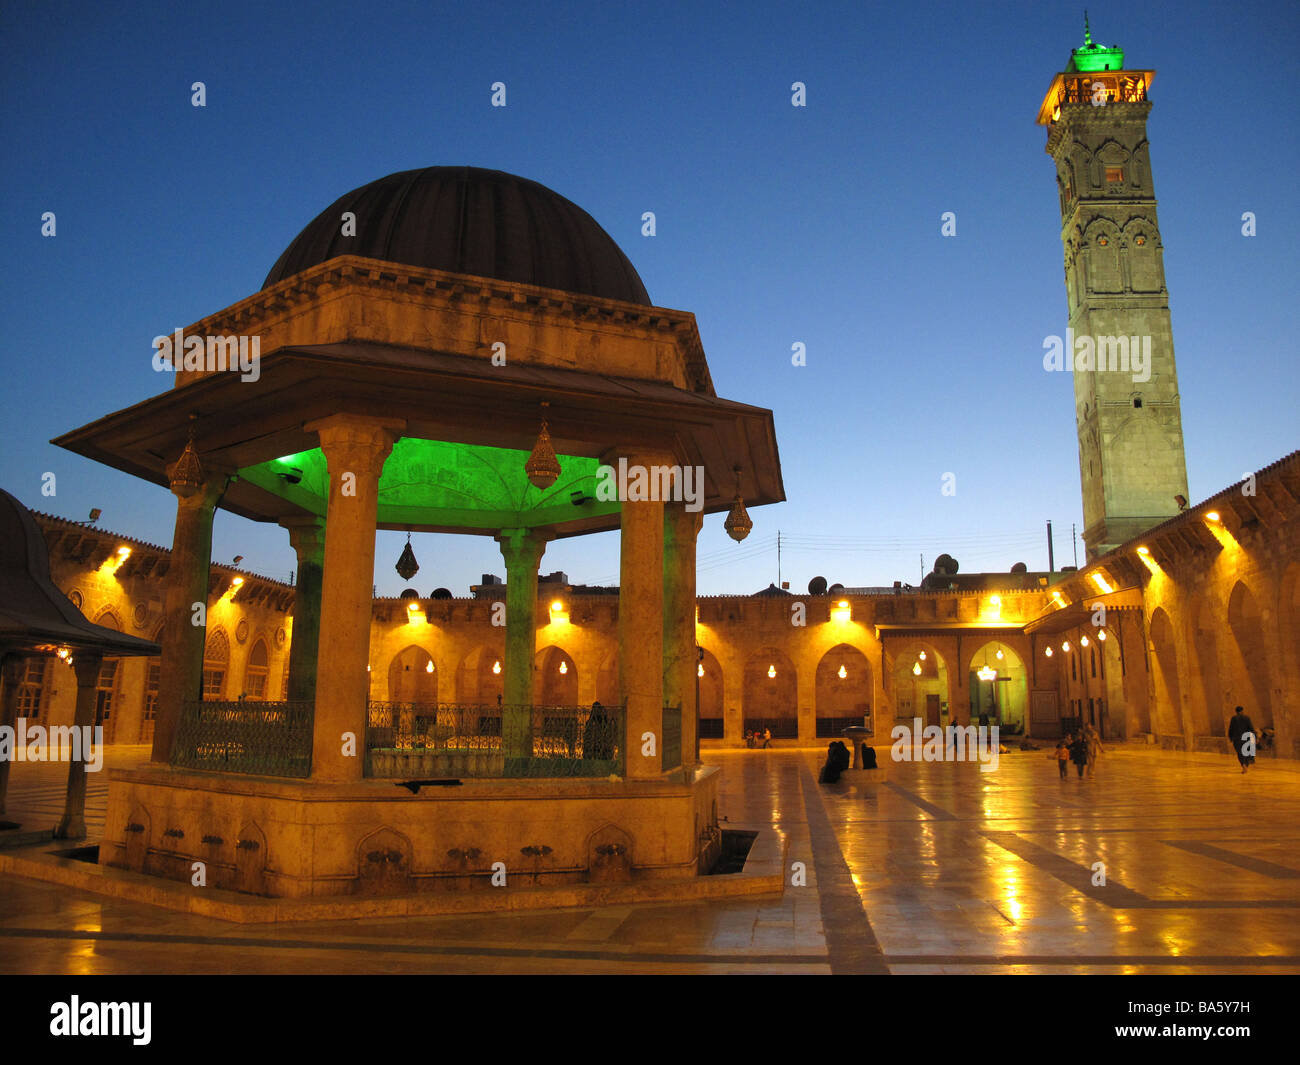
[[[696,537],[703,512],[663,508],[663,701],[681,706],[681,765],[693,766],[699,705],[696,667]]]

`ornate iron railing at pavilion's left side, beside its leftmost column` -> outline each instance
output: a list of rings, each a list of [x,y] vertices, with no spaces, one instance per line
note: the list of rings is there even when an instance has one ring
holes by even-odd
[[[311,776],[312,709],[309,702],[185,702],[172,765],[256,776]]]

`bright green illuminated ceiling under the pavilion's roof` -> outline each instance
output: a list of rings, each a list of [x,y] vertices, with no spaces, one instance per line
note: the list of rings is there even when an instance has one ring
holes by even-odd
[[[524,475],[526,451],[403,437],[380,477],[378,524],[497,531],[618,514],[595,497],[599,459],[558,455],[562,473],[547,489]],[[287,476],[296,476],[290,484]],[[239,471],[239,477],[324,518],[329,498],[325,455],[318,447]],[[575,506],[581,492],[588,501]]]

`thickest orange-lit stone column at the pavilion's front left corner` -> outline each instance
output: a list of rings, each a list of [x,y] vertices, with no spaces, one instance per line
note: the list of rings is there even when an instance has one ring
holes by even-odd
[[[316,688],[312,779],[360,780],[365,775],[365,713],[374,611],[374,527],[380,476],[406,423],[332,415],[304,425],[320,438],[329,469],[325,558],[321,573],[316,661],[326,683]],[[298,624],[296,619],[294,622]],[[294,633],[298,642],[298,633]],[[351,754],[344,753],[351,736]]]

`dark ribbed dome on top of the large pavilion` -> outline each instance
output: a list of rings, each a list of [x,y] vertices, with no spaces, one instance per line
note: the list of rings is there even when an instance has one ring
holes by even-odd
[[[356,215],[356,235],[342,216]],[[341,196],[285,248],[266,289],[338,255],[650,304],[621,248],[543,185],[476,166],[403,170]]]

